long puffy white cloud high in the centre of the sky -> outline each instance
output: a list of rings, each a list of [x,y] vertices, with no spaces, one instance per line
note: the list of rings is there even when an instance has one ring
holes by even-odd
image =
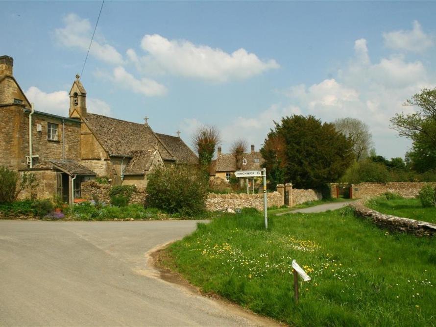
[[[280,67],[275,60],[263,61],[242,48],[227,53],[186,40],[168,40],[158,34],[145,35],[141,48],[146,52],[145,56],[139,57],[133,49],[129,49],[127,57],[142,72],[166,72],[225,82],[249,78]]]

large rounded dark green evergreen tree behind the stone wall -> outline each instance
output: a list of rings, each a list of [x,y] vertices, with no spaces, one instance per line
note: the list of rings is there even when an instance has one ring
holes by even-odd
[[[352,142],[314,116],[284,117],[268,133],[261,153],[272,184],[320,189],[353,163]]]

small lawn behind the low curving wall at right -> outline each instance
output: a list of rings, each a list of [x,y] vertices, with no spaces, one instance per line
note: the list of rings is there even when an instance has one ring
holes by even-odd
[[[436,224],[436,207],[423,208],[419,199],[386,200],[386,198],[379,197],[367,201],[366,205],[371,209],[388,215]]]

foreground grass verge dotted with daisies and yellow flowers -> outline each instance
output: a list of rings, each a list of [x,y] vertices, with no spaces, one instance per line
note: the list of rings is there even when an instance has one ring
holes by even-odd
[[[205,292],[292,326],[435,326],[436,238],[391,233],[349,208],[224,214],[167,249]],[[293,300],[291,260],[313,278]]]

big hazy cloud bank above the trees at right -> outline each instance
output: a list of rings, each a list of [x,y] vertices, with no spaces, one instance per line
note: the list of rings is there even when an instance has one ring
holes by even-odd
[[[370,126],[380,153],[403,155],[410,142],[396,137],[396,132],[389,128],[389,120],[397,112],[411,111],[402,105],[404,101],[424,87],[433,88],[436,79],[422,62],[408,62],[402,56],[371,63],[365,39],[357,40],[354,50],[355,57],[339,70],[337,78],[291,87],[285,93],[290,105],[322,121],[341,117],[361,119]]]

